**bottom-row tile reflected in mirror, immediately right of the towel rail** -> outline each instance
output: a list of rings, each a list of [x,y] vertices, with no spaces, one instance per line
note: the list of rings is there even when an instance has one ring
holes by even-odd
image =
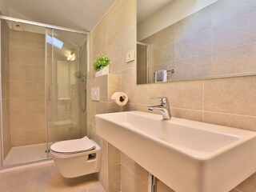
[[[176,79],[207,78],[212,76],[212,54],[202,54],[176,62]]]

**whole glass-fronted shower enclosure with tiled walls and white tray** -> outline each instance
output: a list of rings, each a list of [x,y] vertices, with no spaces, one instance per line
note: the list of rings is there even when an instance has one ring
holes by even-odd
[[[0,17],[3,166],[86,135],[86,32]]]

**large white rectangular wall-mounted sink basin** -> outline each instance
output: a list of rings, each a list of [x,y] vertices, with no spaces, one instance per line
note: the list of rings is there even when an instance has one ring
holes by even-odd
[[[160,114],[97,114],[96,133],[177,192],[227,192],[256,171],[256,133]]]

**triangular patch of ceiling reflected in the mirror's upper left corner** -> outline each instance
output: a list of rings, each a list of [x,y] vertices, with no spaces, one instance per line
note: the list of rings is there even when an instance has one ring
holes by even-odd
[[[138,0],[137,23],[143,22],[173,0]]]

